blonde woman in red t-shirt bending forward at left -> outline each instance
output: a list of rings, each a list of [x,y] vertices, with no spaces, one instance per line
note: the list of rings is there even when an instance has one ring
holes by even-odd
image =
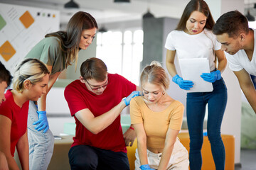
[[[6,101],[0,106],[0,152],[4,153],[9,169],[18,169],[15,148],[21,168],[29,169],[28,105],[46,94],[49,74],[46,65],[37,59],[23,60],[14,72],[14,89],[6,92]]]

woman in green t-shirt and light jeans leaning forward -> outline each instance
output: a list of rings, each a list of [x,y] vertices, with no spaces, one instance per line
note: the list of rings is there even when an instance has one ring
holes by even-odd
[[[95,38],[97,23],[90,13],[79,11],[68,22],[66,31],[46,35],[28,52],[26,58],[36,58],[50,71],[47,93],[37,102],[31,101],[28,111],[28,142],[30,169],[47,169],[53,154],[54,137],[46,117],[46,96],[64,69],[78,62],[79,50],[86,50]]]

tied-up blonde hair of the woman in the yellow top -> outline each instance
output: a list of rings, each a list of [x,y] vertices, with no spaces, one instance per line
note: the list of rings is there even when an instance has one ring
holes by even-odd
[[[149,66],[146,66],[141,74],[140,83],[141,86],[149,82],[162,86],[164,90],[169,89],[170,80],[166,71],[161,67],[159,62],[153,61]]]

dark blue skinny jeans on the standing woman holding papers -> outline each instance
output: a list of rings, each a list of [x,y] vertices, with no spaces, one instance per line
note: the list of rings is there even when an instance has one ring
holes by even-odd
[[[228,94],[223,78],[213,83],[213,91],[187,94],[186,114],[190,137],[189,162],[191,170],[202,167],[203,120],[208,103],[207,133],[216,170],[225,168],[225,147],[220,127],[227,104]]]

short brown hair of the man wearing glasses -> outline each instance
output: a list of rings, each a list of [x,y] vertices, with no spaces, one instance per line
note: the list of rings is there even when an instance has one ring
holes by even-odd
[[[85,62],[82,62],[80,73],[83,79],[95,79],[96,81],[105,81],[107,66],[102,60],[92,57],[85,60]]]

